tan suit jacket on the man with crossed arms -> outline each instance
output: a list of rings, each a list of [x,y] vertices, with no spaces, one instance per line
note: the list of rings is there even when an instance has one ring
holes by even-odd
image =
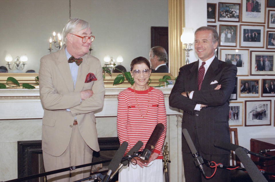
[[[53,156],[60,156],[66,150],[74,117],[87,145],[99,151],[94,111],[103,107],[105,88],[102,68],[94,56],[86,54],[82,58],[75,88],[64,47],[40,60],[39,87],[44,108],[42,150]],[[93,73],[97,81],[85,83],[88,73]],[[93,91],[93,96],[81,101],[80,91],[88,89]]]

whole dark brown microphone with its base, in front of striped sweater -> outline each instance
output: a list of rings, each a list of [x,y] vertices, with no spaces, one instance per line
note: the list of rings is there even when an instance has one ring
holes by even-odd
[[[156,125],[154,131],[152,132],[150,138],[148,139],[148,142],[145,145],[144,150],[142,151],[142,154],[138,156],[139,158],[141,158],[142,160],[148,160],[163,130],[164,130],[164,125],[162,123],[159,123]]]

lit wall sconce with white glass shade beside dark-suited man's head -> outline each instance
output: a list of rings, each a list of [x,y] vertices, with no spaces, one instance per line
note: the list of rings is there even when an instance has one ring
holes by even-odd
[[[184,50],[186,51],[186,62],[185,64],[189,64],[190,60],[189,60],[189,51],[193,50],[191,49],[192,44],[194,43],[194,39],[195,39],[195,35],[193,32],[193,28],[182,28],[183,32],[180,36],[180,41],[182,42],[182,44],[185,45]]]

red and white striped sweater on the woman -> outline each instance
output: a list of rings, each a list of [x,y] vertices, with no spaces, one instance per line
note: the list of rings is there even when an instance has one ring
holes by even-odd
[[[141,115],[144,118],[142,118]],[[152,152],[159,154],[157,159],[162,159],[162,145],[166,135],[166,109],[162,91],[153,87],[149,87],[149,89],[145,91],[134,91],[131,88],[127,88],[119,93],[117,135],[120,144],[124,141],[129,144],[125,153],[127,153],[138,140],[143,142],[142,148],[145,148],[148,139],[158,123],[164,125],[164,131]]]

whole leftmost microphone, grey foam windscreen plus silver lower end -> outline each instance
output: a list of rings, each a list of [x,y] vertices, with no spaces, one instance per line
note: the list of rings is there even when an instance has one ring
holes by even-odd
[[[115,169],[118,167],[126,149],[127,149],[128,143],[127,142],[123,142],[121,144],[121,146],[118,148],[117,152],[115,152],[115,155],[113,156],[113,159],[111,160],[109,166],[108,166],[108,172],[107,174],[104,176],[104,179],[102,180],[102,182],[107,182],[109,181],[109,177],[112,173],[112,171],[115,171]]]

